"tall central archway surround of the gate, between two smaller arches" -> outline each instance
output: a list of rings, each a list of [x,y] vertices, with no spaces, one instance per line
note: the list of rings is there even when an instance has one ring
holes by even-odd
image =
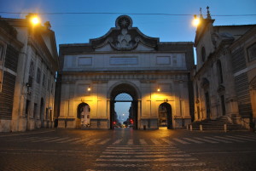
[[[132,98],[129,100],[123,99],[119,100],[116,97],[119,94],[129,94]],[[114,110],[114,103],[116,102],[131,102],[131,113],[132,113],[132,120],[133,120],[133,128],[137,129],[138,127],[138,91],[136,86],[132,85],[131,83],[119,83],[114,85],[111,89],[110,93],[110,129],[114,128],[115,124],[115,110]]]

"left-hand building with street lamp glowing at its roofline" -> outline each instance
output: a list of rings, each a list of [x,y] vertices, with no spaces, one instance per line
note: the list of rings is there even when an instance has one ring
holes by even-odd
[[[31,17],[0,18],[0,132],[53,126],[55,33]]]

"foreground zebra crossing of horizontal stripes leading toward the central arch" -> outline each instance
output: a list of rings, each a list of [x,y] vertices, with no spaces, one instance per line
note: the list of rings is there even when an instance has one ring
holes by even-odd
[[[202,168],[207,164],[173,145],[109,145],[94,163],[94,167],[99,170],[159,170],[169,167],[175,170],[192,166]]]

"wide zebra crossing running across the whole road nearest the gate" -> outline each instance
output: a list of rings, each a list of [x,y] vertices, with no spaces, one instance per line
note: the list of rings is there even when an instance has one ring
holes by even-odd
[[[161,138],[161,139],[115,139],[110,138],[79,138],[79,137],[20,137],[15,139],[2,138],[1,141],[32,142],[32,143],[57,143],[71,145],[190,145],[190,144],[218,144],[218,143],[247,143],[255,142],[256,135],[223,135],[223,136],[202,136],[202,137],[182,137],[182,138]]]

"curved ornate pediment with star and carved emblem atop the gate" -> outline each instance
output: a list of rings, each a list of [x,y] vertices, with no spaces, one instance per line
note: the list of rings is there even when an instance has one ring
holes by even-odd
[[[115,27],[111,28],[106,35],[90,39],[90,44],[96,51],[152,50],[157,48],[158,43],[159,38],[145,36],[137,27],[132,27],[131,17],[127,15],[119,16],[115,21]]]

